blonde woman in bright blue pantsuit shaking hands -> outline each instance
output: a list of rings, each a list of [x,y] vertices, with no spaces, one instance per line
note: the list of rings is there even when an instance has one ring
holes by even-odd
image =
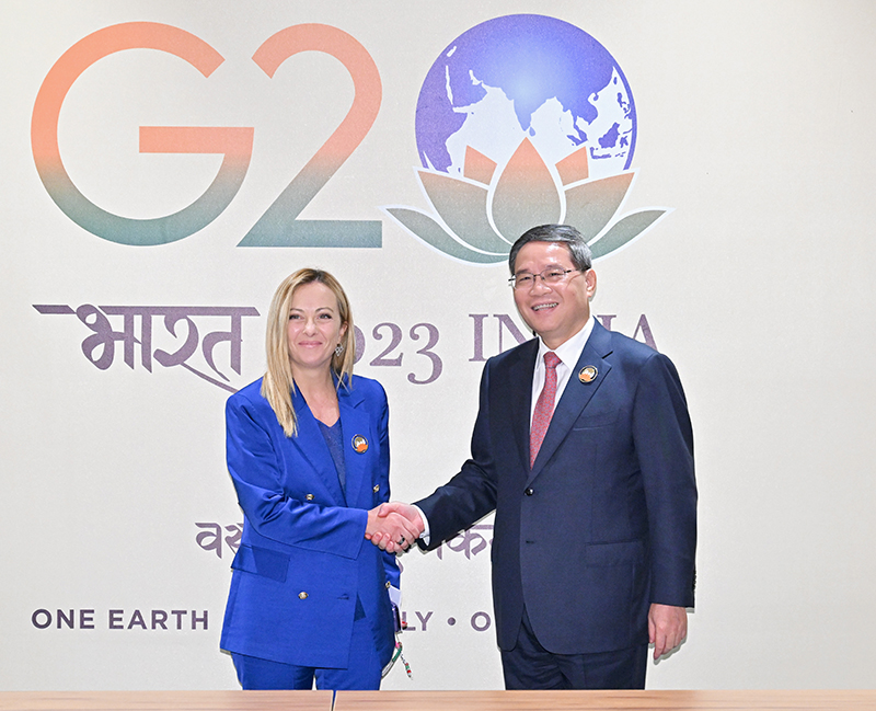
[[[226,406],[244,523],[221,646],[244,689],[310,689],[314,677],[323,689],[377,689],[399,569],[366,536],[405,544],[417,534],[376,512],[390,493],[387,395],[353,378],[349,301],[326,272],[280,284],[266,346],[267,372]]]

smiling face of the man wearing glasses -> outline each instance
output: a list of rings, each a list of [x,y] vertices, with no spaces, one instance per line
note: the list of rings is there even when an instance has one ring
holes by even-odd
[[[568,248],[561,242],[529,242],[517,253],[515,276],[541,274],[545,270],[574,270]],[[575,271],[560,284],[548,285],[537,277],[529,287],[514,290],[517,310],[530,329],[553,349],[568,341],[590,318],[590,299],[596,294],[596,274]]]

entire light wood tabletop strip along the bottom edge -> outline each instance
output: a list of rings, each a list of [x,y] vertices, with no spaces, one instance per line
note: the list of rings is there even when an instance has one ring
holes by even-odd
[[[2,711],[867,711],[876,690],[0,691]]]

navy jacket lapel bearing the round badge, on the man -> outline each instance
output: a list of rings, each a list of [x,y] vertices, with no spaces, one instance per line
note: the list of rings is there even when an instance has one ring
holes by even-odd
[[[531,482],[539,474],[544,467],[544,462],[556,451],[557,447],[566,438],[569,429],[572,429],[575,421],[580,416],[581,411],[606,381],[606,377],[611,370],[611,364],[604,358],[611,353],[611,334],[597,321],[593,324],[590,337],[587,339],[587,343],[578,357],[578,362],[572,370],[566,389],[563,391],[563,397],[560,398],[560,402],[557,402],[556,408],[554,408],[551,424],[548,427],[548,433],[544,435],[544,441],[539,449],[539,456],[535,458],[527,483]],[[578,374],[581,368],[587,366],[596,367],[597,377],[591,382],[585,383],[578,378]],[[532,378],[530,377],[530,383],[531,382]]]

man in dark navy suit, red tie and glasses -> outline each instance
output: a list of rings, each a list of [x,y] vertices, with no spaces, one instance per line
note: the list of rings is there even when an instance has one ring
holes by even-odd
[[[495,509],[508,689],[644,688],[648,643],[655,660],[678,646],[693,605],[696,485],[681,382],[669,358],[590,316],[596,273],[577,230],[527,231],[509,266],[539,337],[486,363],[462,470],[382,513],[424,528],[418,543],[430,550]]]

